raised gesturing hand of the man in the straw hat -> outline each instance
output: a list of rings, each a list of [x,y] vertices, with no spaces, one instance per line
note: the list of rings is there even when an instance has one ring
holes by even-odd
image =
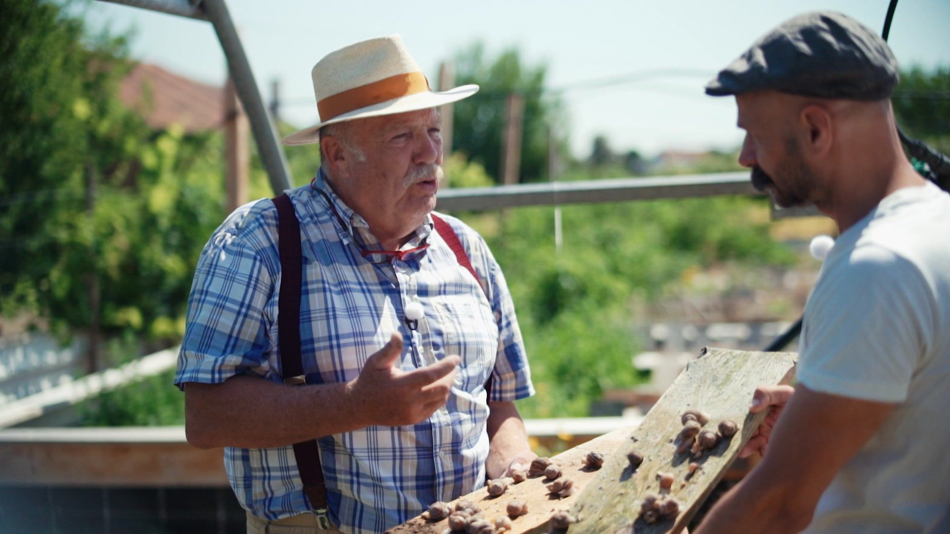
[[[447,356],[422,369],[402,372],[393,367],[402,353],[403,336],[392,334],[390,342],[370,356],[347,387],[357,417],[367,426],[414,425],[446,404],[455,368],[462,360]]]

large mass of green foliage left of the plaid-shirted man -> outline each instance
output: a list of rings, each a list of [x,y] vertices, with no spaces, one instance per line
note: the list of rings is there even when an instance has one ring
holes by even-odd
[[[155,131],[121,103],[123,36],[89,37],[42,0],[4,2],[0,19],[3,311],[61,334],[99,323],[176,340],[222,215],[220,136]]]

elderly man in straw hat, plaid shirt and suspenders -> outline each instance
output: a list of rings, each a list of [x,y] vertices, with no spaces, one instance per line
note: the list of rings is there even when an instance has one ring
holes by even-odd
[[[208,242],[175,382],[249,532],[381,532],[526,467],[513,401],[534,391],[485,241],[430,213],[436,106],[478,86],[430,91],[398,36],[313,78],[322,123],[284,143],[319,141],[320,171]]]

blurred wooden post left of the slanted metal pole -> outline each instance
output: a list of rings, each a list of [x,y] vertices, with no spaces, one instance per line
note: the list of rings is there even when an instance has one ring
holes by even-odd
[[[226,211],[231,213],[248,200],[251,154],[247,139],[250,129],[247,115],[237,100],[234,82],[230,76],[224,86],[224,110]]]

